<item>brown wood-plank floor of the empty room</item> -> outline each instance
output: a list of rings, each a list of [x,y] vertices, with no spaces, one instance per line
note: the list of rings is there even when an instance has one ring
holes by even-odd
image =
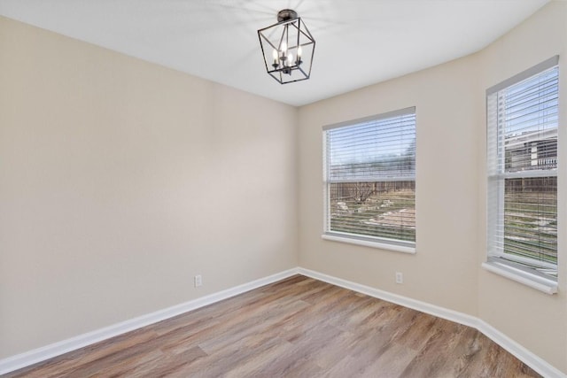
[[[536,377],[474,328],[301,275],[5,377]]]

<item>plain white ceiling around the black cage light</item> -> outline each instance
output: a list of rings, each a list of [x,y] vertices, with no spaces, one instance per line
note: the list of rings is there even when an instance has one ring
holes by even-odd
[[[548,0],[0,0],[0,14],[230,87],[302,105],[478,51]],[[257,29],[299,13],[311,79],[268,76]],[[0,46],[1,49],[1,46]]]

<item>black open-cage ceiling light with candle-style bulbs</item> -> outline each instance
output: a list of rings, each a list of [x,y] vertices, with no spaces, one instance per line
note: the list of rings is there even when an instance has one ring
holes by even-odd
[[[315,39],[298,13],[277,12],[277,23],[258,30],[266,71],[280,84],[309,79]]]

